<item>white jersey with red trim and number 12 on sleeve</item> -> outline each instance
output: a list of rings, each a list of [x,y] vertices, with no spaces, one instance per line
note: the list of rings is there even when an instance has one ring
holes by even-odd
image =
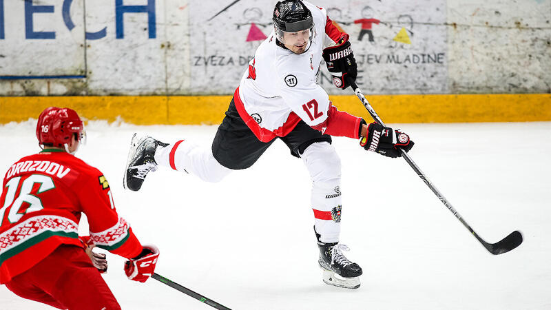
[[[272,31],[256,50],[234,95],[236,108],[260,141],[289,134],[304,121],[315,126],[326,121],[329,96],[316,83],[322,51],[335,45],[340,32],[326,10],[303,1],[312,12],[315,33],[302,54],[276,45]]]

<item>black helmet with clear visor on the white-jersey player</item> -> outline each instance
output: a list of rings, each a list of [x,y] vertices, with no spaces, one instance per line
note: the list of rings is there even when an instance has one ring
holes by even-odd
[[[313,34],[312,12],[300,0],[278,1],[273,10],[273,26],[278,40],[283,41],[283,32],[310,30]]]

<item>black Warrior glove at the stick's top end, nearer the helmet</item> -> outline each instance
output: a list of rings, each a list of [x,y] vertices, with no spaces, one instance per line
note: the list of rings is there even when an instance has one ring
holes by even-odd
[[[337,45],[323,50],[322,56],[327,65],[327,70],[333,76],[335,86],[344,90],[350,86],[347,79],[356,81],[357,65],[348,34],[344,34]]]

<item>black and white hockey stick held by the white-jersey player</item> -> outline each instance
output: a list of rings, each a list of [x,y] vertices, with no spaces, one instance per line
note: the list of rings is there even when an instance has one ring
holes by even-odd
[[[373,110],[373,107],[371,107],[371,104],[369,104],[369,102],[367,101],[364,94],[362,94],[362,90],[360,90],[360,88],[357,87],[354,81],[349,80],[349,83],[351,84],[352,89],[356,93],[356,96],[358,97],[358,99],[362,101],[366,110],[369,112],[369,114],[371,114],[371,117],[373,117],[373,119],[377,123],[380,123],[381,125],[384,126],[384,123],[379,117],[379,115],[377,115],[375,110]],[[501,239],[499,242],[496,242],[496,243],[488,243],[484,241],[484,239],[480,238],[480,236],[470,227],[470,225],[467,224],[467,222],[459,215],[459,213],[455,211],[455,209],[452,207],[451,203],[446,199],[446,197],[444,197],[444,195],[442,195],[439,192],[439,190],[435,187],[435,185],[433,185],[433,183],[430,182],[430,180],[428,180],[426,175],[413,162],[413,159],[411,159],[408,153],[406,153],[404,149],[399,149],[399,150],[402,152],[402,157],[406,160],[406,162],[408,162],[410,167],[412,167],[413,170],[415,170],[415,172],[417,173],[417,176],[419,176],[419,178],[421,178],[424,181],[424,183],[428,186],[428,188],[430,188],[431,191],[433,191],[433,193],[438,197],[438,199],[442,203],[444,203],[444,205],[448,209],[450,209],[450,211],[459,220],[459,222],[461,222],[461,224],[463,224],[468,229],[468,231],[470,231],[470,233],[473,236],[475,236],[475,238],[477,238],[477,240],[479,240],[479,242],[482,245],[484,245],[484,247],[486,247],[488,251],[490,251],[491,254],[494,254],[494,255],[503,254],[521,245],[522,234],[520,233],[520,231],[517,231],[517,230],[513,231],[511,234],[509,234],[509,236],[506,236],[505,238]]]

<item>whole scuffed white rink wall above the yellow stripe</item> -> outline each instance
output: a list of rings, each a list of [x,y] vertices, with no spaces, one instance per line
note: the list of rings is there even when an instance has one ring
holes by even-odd
[[[0,96],[231,94],[275,2],[0,0]],[[313,3],[350,34],[366,93],[551,92],[551,0]],[[342,94],[325,68],[319,83]]]

